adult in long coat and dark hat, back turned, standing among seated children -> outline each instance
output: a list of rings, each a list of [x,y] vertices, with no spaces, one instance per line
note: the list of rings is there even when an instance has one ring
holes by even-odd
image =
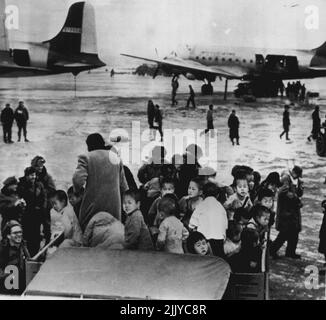
[[[83,231],[99,212],[110,212],[121,220],[121,193],[128,189],[122,161],[115,152],[106,150],[103,137],[91,134],[86,144],[89,152],[79,156],[73,176],[75,192],[85,186],[79,214]]]

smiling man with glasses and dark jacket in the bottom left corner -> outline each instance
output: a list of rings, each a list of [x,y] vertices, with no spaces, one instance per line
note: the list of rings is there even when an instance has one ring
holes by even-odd
[[[17,221],[8,222],[3,229],[0,243],[0,293],[20,295],[24,292],[26,287],[25,262],[29,258],[29,252],[23,242],[21,225]],[[6,270],[7,267],[11,270]],[[15,287],[12,279],[9,279],[8,283],[12,285],[11,288],[8,287],[6,278],[13,272],[12,267],[16,267],[18,271],[18,283],[16,283],[18,287]],[[6,271],[9,271],[9,274]]]

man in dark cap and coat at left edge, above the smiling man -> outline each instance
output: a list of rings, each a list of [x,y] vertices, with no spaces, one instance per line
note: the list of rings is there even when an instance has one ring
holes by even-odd
[[[0,193],[1,230],[11,220],[21,222],[26,203],[19,198],[17,188],[18,180],[15,177],[9,177],[3,182]]]

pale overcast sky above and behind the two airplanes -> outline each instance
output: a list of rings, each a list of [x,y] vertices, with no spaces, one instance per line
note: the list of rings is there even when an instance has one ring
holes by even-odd
[[[43,41],[62,27],[70,0],[7,0],[18,4],[15,40]],[[91,0],[102,57],[121,52],[164,55],[179,44],[314,48],[326,41],[322,0]],[[319,7],[319,30],[307,30],[305,9]]]

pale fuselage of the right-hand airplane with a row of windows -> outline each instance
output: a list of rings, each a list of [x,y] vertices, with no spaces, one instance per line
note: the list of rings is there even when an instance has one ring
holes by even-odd
[[[242,74],[243,80],[264,77],[270,80],[289,80],[325,77],[326,70],[315,70],[318,66],[315,50],[259,49],[244,47],[187,48],[182,59],[208,67],[223,68]],[[200,80],[200,75],[195,75]],[[213,82],[215,79],[202,79]]]

